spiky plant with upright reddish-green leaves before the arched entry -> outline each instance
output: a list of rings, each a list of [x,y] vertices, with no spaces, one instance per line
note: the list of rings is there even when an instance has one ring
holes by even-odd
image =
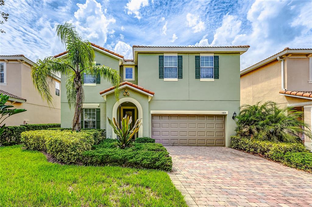
[[[111,120],[107,117],[107,119],[115,134],[119,137],[116,145],[122,149],[128,147],[132,143],[131,138],[134,136],[135,133],[139,131],[139,128],[142,124],[141,119],[138,119],[132,127],[132,117],[129,117],[127,115],[122,118],[122,120],[120,121],[120,125],[115,118]]]

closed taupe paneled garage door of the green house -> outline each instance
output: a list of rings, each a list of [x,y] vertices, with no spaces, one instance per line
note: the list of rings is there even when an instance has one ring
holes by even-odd
[[[224,116],[152,114],[152,138],[163,145],[224,146]]]

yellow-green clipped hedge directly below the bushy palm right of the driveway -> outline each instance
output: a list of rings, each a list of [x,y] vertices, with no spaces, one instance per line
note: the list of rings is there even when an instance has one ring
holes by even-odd
[[[282,161],[284,154],[288,152],[305,152],[305,146],[301,143],[274,143],[269,141],[257,141],[250,138],[231,136],[232,148],[246,152],[260,153],[272,160]]]

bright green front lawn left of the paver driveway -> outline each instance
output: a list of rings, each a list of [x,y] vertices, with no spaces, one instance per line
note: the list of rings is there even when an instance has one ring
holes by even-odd
[[[167,173],[46,161],[21,146],[0,147],[0,206],[187,206]]]

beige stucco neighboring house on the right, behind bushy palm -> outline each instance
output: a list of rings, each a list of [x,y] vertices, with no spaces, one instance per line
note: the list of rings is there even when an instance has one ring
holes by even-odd
[[[262,101],[304,111],[304,121],[312,125],[312,49],[290,49],[241,71],[241,105]],[[311,149],[311,140],[302,135]]]

